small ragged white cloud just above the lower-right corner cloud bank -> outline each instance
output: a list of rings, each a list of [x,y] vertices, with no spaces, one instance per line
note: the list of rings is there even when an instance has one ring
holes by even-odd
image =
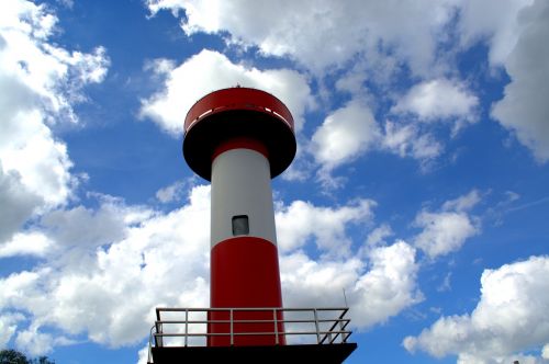
[[[479,219],[467,213],[479,201],[478,192],[473,190],[446,202],[441,212],[419,212],[414,225],[423,228],[423,231],[414,238],[414,244],[432,259],[459,250],[467,239],[480,231]]]

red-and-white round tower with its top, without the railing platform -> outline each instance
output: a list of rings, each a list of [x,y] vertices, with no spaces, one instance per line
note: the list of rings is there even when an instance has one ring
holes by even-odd
[[[293,128],[292,115],[279,99],[248,88],[212,92],[187,114],[184,159],[197,174],[212,183],[212,308],[282,307],[270,180],[293,160]],[[236,315],[236,321],[272,320],[272,314],[266,311]],[[209,319],[226,320],[228,314],[212,311]],[[209,325],[210,333],[228,330],[228,323]],[[272,323],[235,323],[232,330],[272,332],[273,328]],[[283,333],[281,323],[277,332]],[[237,335],[233,344],[284,342],[283,334]],[[208,344],[225,346],[229,342],[227,337],[211,335]]]

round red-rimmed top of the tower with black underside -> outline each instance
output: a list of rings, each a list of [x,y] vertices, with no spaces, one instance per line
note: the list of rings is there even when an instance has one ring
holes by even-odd
[[[229,88],[206,94],[184,118],[183,156],[189,167],[211,179],[216,149],[236,139],[261,143],[271,178],[282,173],[296,150],[293,117],[272,94],[250,88]]]

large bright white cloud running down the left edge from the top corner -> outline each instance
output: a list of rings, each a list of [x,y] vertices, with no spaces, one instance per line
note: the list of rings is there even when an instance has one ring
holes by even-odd
[[[52,124],[77,122],[72,103],[81,89],[100,82],[108,59],[48,43],[57,18],[45,5],[10,0],[0,15],[0,201],[13,214],[2,216],[0,240],[35,213],[67,202],[78,180],[64,143]],[[2,214],[3,215],[3,214]]]

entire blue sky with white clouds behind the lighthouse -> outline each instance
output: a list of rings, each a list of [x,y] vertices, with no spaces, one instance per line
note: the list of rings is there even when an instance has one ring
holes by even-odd
[[[2,1],[0,346],[144,363],[209,303],[194,101],[296,121],[272,182],[284,305],[340,306],[347,363],[549,362],[549,3]]]

